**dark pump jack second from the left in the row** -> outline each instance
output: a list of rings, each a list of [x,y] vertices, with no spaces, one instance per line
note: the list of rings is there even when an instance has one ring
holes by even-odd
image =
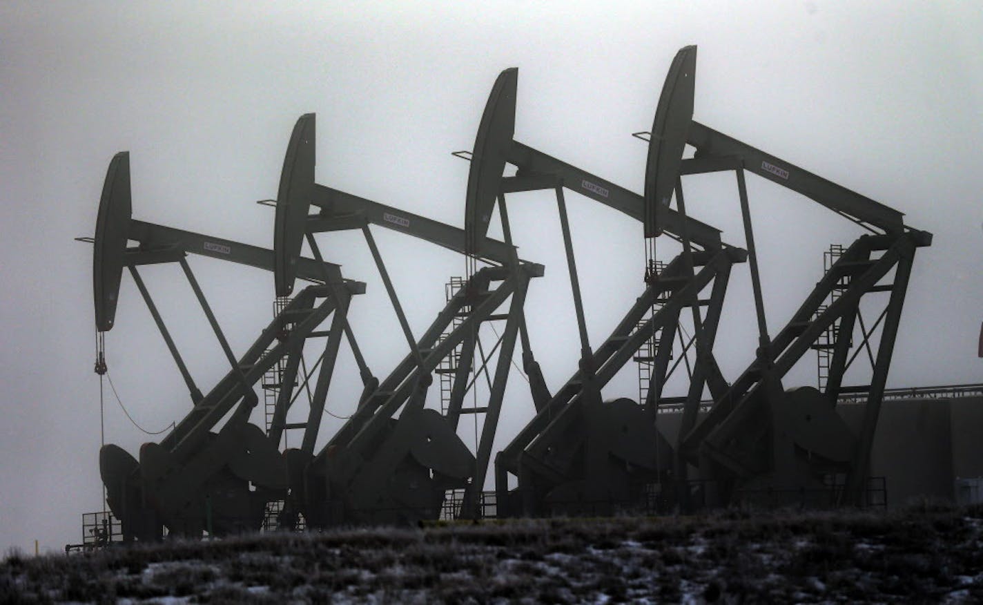
[[[360,229],[376,262],[399,318],[409,352],[388,377],[367,383],[359,407],[327,445],[314,454],[314,439],[286,453],[290,467],[288,506],[304,514],[309,526],[358,522],[412,522],[436,518],[448,490],[464,491],[455,514],[479,514],[482,486],[502,395],[517,335],[521,333],[525,369],[534,393],[544,393],[542,374],[532,354],[523,321],[523,303],[531,277],[542,265],[521,261],[508,241],[486,240],[478,261],[488,267],[473,275],[447,302],[419,338],[411,332],[370,225],[386,227],[449,250],[466,251],[465,231],[435,220],[378,204],[314,182],[315,115],[302,116],[294,127],[281,182],[290,194],[277,201],[275,224],[276,287],[290,294],[295,267],[306,239],[320,259],[315,234]],[[314,206],[318,212],[311,213]],[[509,300],[507,312],[499,312]],[[488,356],[477,371],[473,359],[481,348],[479,329],[485,322],[504,321],[494,375],[485,405],[464,405],[474,385],[469,376],[487,369]],[[445,363],[453,359],[453,364]],[[453,389],[445,409],[425,407],[435,372],[452,373]],[[396,416],[399,414],[398,417]],[[472,453],[457,435],[462,414],[484,415],[481,437]],[[312,436],[309,431],[306,436]]]

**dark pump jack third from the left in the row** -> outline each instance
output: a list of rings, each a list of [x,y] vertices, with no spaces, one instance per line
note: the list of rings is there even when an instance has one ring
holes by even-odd
[[[661,272],[654,263],[646,268],[645,291],[604,343],[592,348],[563,190],[640,221],[645,219],[647,199],[515,141],[517,81],[516,69],[502,72],[482,116],[468,179],[468,252],[486,249],[496,203],[507,231],[506,194],[552,190],[563,232],[581,358],[577,372],[549,399],[538,402],[536,417],[496,457],[498,513],[610,514],[613,507],[630,506],[644,497],[647,484],[671,474],[672,448],[657,428],[657,416],[659,405],[666,402],[663,387],[671,373],[670,353],[680,314],[687,308],[695,333],[682,354],[695,345],[696,355],[685,399],[698,405],[705,387],[715,394],[726,389],[713,347],[731,266],[743,262],[746,253],[723,244],[718,229],[686,216],[682,204],[679,212],[666,210],[665,232],[682,244],[682,253]],[[652,158],[650,152],[650,173],[655,169]],[[517,167],[515,176],[503,177],[506,163]],[[603,401],[601,390],[641,349],[651,350],[654,362],[646,400]],[[518,481],[512,491],[509,474]]]

